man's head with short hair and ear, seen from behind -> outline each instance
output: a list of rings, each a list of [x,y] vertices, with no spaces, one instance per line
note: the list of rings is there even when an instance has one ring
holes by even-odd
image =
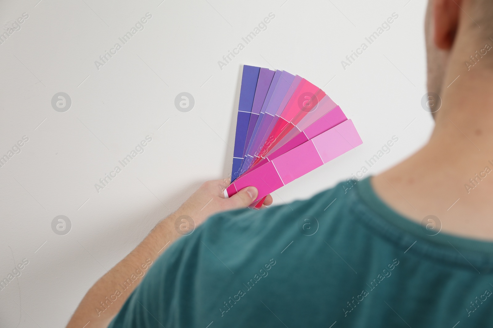
[[[427,89],[441,95],[449,74],[467,70],[466,61],[475,63],[470,56],[486,43],[493,46],[493,0],[429,0],[424,30]],[[492,68],[493,51],[485,57],[478,70]]]

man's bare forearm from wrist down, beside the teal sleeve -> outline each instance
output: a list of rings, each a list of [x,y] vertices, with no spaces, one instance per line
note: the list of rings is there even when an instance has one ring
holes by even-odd
[[[178,214],[161,221],[142,242],[111,268],[87,292],[75,310],[67,328],[107,327],[125,300],[139,285],[149,266],[179,235],[174,229]]]

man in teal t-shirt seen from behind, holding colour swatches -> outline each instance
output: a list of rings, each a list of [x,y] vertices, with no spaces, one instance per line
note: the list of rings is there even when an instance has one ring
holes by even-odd
[[[240,209],[255,188],[205,183],[68,327],[492,327],[493,1],[430,0],[425,31],[442,106],[423,149],[260,211]],[[205,222],[171,244],[189,217]]]

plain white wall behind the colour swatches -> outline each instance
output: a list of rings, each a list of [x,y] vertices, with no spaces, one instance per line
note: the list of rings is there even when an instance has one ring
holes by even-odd
[[[366,176],[380,172],[433,126],[421,107],[425,0],[38,1],[0,4],[2,27],[29,15],[0,45],[0,156],[29,138],[0,168],[0,279],[29,260],[0,291],[1,327],[63,327],[158,220],[230,174],[243,64],[316,84],[364,142],[281,188],[276,204],[350,177],[395,135]],[[95,60],[147,12],[144,30],[98,70]],[[271,12],[267,30],[221,70],[217,61]],[[344,70],[341,60],[393,12],[391,29]],[[183,91],[195,98],[188,113],[174,106]],[[57,92],[70,95],[64,113],[51,106]],[[145,151],[98,193],[95,183],[147,135]],[[70,219],[65,236],[52,231],[58,215]]]

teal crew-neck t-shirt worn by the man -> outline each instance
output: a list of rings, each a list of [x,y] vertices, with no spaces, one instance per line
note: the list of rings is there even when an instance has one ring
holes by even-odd
[[[429,224],[369,179],[219,213],[155,261],[109,327],[493,327],[493,242]]]

